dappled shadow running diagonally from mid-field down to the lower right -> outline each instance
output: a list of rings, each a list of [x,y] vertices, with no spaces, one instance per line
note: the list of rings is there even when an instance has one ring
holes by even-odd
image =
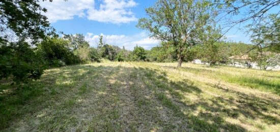
[[[190,102],[189,104],[183,101],[185,100],[185,97],[182,93],[186,92],[198,97],[201,93],[203,93],[201,89],[193,86],[193,83],[191,83],[191,81],[184,80],[183,82],[172,82],[169,81],[166,76],[164,76],[163,74],[159,74],[154,70],[147,68],[139,68],[139,70],[141,70],[141,72],[148,72],[149,74],[153,74],[153,76],[149,77],[149,80],[159,89],[159,91],[156,92],[159,93],[158,99],[165,107],[173,110],[174,114],[171,116],[177,116],[181,120],[186,120],[186,125],[189,130],[245,131],[243,127],[237,124],[229,123],[224,118],[222,118],[222,116],[219,116],[220,114],[222,114],[223,107],[214,107],[214,105],[209,104],[208,101],[204,101],[203,99],[199,100],[198,102]],[[172,98],[169,98],[169,95],[166,95],[166,92],[164,91],[169,91],[169,93],[172,95]],[[207,112],[199,112],[197,115],[195,115],[194,112],[198,110],[198,107],[205,108]],[[213,110],[220,114],[213,114]]]

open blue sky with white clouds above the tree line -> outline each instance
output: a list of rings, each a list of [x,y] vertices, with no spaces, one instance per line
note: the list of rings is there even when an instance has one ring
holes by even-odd
[[[48,9],[45,14],[57,31],[65,34],[80,33],[86,36],[91,46],[96,46],[98,36],[103,35],[106,43],[133,49],[137,44],[146,49],[159,41],[149,38],[137,29],[137,19],[145,17],[145,8],[156,1],[141,0],[53,0],[41,2]],[[242,26],[241,26],[242,27]],[[226,34],[227,40],[249,43],[249,37],[238,27]]]

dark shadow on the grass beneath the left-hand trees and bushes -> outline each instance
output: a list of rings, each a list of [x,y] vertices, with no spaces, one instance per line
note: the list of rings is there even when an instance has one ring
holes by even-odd
[[[88,66],[52,68],[40,80],[28,84],[22,84],[21,86],[11,86],[10,82],[1,84],[0,131],[9,127],[15,120],[32,116],[34,113],[43,111],[50,106],[60,107],[56,103],[65,100],[65,95],[75,91],[75,88],[79,88],[81,80],[97,69],[102,68]],[[102,76],[102,73],[99,74]],[[72,105],[72,101],[71,98],[66,99],[65,105]],[[64,109],[63,106],[61,109]],[[67,117],[65,117],[65,120],[67,120]],[[64,118],[60,120],[63,121]],[[53,118],[53,121],[55,123],[57,119]]]

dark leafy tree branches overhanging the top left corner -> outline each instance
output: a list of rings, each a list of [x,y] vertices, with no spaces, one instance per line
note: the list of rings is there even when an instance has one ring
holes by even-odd
[[[0,41],[15,41],[10,36],[15,34],[16,39],[24,41],[29,38],[35,44],[46,35],[54,34],[47,17],[41,14],[47,10],[40,7],[39,0],[4,0],[1,1],[0,12],[0,30],[4,33]]]

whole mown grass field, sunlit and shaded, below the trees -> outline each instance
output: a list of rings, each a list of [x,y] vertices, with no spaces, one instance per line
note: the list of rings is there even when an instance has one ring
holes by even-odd
[[[103,62],[0,85],[1,131],[280,131],[280,72]]]

